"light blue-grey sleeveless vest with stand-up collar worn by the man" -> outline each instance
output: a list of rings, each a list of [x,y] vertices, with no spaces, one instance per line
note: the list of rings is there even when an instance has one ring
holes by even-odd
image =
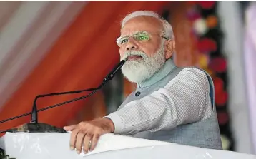
[[[136,91],[132,92],[119,106],[121,109],[130,101],[143,98],[148,94],[163,88],[169,81],[171,81],[183,68],[177,68],[173,61],[169,59],[163,66],[162,70],[154,74],[152,78],[143,83],[137,83]],[[201,120],[196,123],[189,123],[186,125],[179,125],[173,130],[159,130],[157,132],[144,131],[132,135],[135,138],[145,138],[149,140],[161,140],[170,143],[178,143],[181,145],[190,145],[200,148],[222,149],[220,140],[220,130],[217,121],[217,114],[215,110],[214,86],[212,78],[205,72],[210,83],[210,98],[213,108],[213,113],[207,120]],[[139,92],[139,96],[138,95]],[[136,94],[137,93],[137,94]]]

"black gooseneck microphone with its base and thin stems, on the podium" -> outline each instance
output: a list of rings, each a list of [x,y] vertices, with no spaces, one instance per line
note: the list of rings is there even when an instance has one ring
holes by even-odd
[[[79,101],[81,99],[87,98],[89,96],[92,96],[94,93],[96,93],[99,89],[102,88],[102,86],[104,86],[104,84],[106,84],[109,80],[112,80],[112,78],[114,78],[114,75],[117,73],[117,71],[119,71],[120,68],[122,68],[122,66],[124,65],[124,63],[127,61],[127,58],[120,61],[116,67],[114,67],[112,69],[112,71],[104,78],[104,80],[102,81],[102,83],[97,87],[97,88],[89,88],[89,89],[85,89],[85,90],[79,90],[79,91],[67,91],[67,92],[60,92],[60,93],[49,93],[49,94],[44,94],[44,95],[38,95],[36,96],[36,98],[34,99],[34,103],[33,103],[33,107],[32,107],[32,111],[30,113],[24,113],[20,116],[15,116],[12,118],[8,118],[5,120],[1,120],[0,123],[5,123],[9,120],[14,120],[16,118],[21,118],[24,116],[28,116],[31,114],[31,122],[30,123],[25,123],[24,125],[22,125],[19,128],[11,128],[8,130],[2,130],[0,131],[0,133],[6,133],[6,132],[11,132],[11,133],[16,133],[16,132],[28,132],[28,133],[46,133],[46,132],[50,132],[50,133],[66,133],[66,130],[64,130],[63,128],[56,128],[55,126],[46,124],[46,123],[38,123],[38,112],[40,111],[45,111],[47,109],[50,108],[54,108],[56,106],[62,106],[64,104],[67,103],[72,103],[74,101]],[[63,94],[72,94],[72,93],[81,93],[81,92],[85,92],[85,91],[92,91],[92,93],[89,93],[88,95],[85,96],[81,96],[79,98],[74,98],[72,100],[69,101],[64,101],[62,103],[58,103],[55,104],[53,106],[48,106],[46,108],[41,108],[39,110],[37,110],[37,106],[36,106],[36,101],[39,98],[42,97],[46,97],[46,96],[59,96],[59,95],[63,95]]]

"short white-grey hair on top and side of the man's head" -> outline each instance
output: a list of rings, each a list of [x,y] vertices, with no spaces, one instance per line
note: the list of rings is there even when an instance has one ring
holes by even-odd
[[[124,24],[129,21],[129,19],[132,19],[136,16],[152,16],[154,18],[159,19],[162,22],[163,26],[163,36],[166,36],[168,39],[174,39],[174,34],[172,31],[172,26],[169,24],[169,22],[162,18],[159,14],[153,12],[153,11],[134,11],[131,14],[128,14],[124,17],[124,19],[121,21],[121,29],[124,27]]]

